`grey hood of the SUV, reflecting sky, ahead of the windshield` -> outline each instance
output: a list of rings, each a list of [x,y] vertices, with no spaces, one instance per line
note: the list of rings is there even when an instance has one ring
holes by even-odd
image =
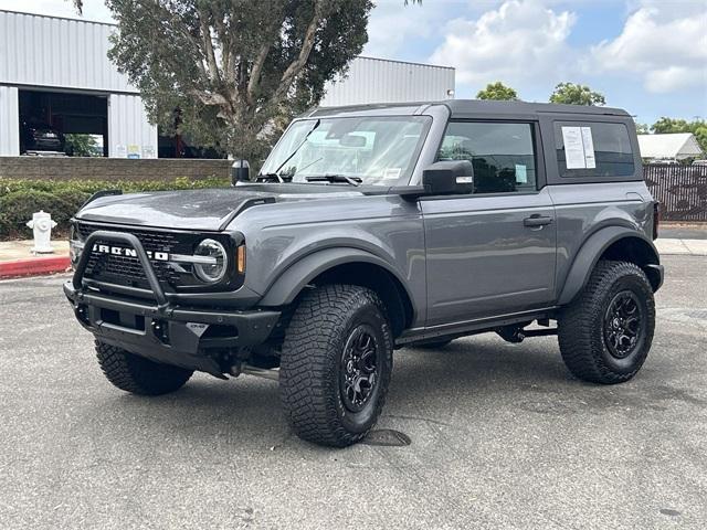
[[[360,195],[341,187],[255,184],[204,190],[157,191],[107,195],[91,201],[75,218],[102,223],[220,231],[246,208],[279,201]]]

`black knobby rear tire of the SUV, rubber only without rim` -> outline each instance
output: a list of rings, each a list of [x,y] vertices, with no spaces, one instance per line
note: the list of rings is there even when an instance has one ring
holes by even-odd
[[[604,338],[605,315],[614,297],[635,295],[644,322],[635,346],[625,358],[616,358]],[[633,378],[651,349],[655,328],[653,289],[645,273],[627,262],[600,261],[583,292],[558,318],[558,340],[564,364],[577,378],[615,384]]]

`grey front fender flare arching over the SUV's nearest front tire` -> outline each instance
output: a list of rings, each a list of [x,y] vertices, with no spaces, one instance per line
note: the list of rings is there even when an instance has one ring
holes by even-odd
[[[403,286],[411,303],[414,299],[400,274],[383,258],[360,248],[333,247],[300,257],[271,284],[258,305],[277,307],[292,304],[302,289],[314,278],[337,265],[347,263],[370,263],[380,266]]]

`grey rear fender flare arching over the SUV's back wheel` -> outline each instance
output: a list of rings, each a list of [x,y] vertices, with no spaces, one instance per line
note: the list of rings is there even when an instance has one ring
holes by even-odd
[[[562,286],[562,290],[558,298],[558,305],[564,306],[572,301],[584,288],[587,282],[589,282],[589,276],[592,274],[597,262],[604,251],[616,241],[624,239],[637,239],[646,243],[653,254],[651,259],[652,264],[659,264],[659,257],[655,245],[643,233],[626,226],[603,227],[591,234],[577,253],[567,278],[564,279],[564,285]],[[659,285],[657,287],[659,287]],[[655,290],[657,290],[657,287],[655,287]]]

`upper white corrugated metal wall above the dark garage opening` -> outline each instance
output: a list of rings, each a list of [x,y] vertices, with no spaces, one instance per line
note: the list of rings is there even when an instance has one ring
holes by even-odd
[[[0,11],[0,83],[138,93],[107,60],[114,25]]]

